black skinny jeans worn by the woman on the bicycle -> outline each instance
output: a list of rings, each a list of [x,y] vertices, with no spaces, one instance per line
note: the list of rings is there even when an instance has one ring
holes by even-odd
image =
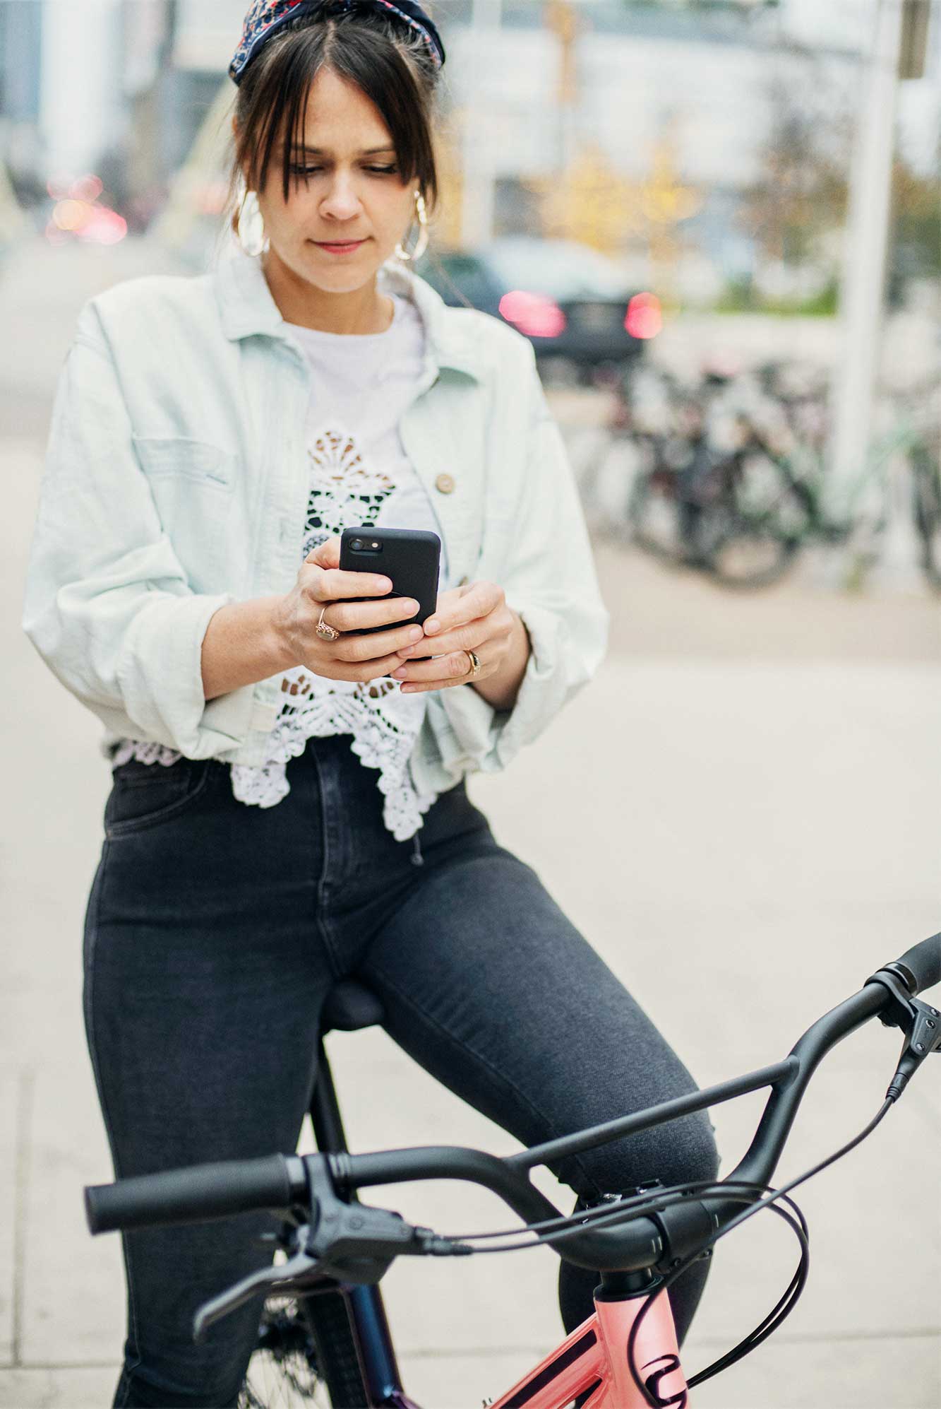
[[[117,1178],[295,1148],[332,983],[381,998],[399,1047],[525,1144],[693,1089],[662,1037],[461,786],[398,843],[349,738],[311,740],[274,807],[229,769],[181,758],[115,771],[89,898],[84,1017]],[[409,1140],[402,1127],[402,1143]],[[592,1199],[712,1178],[706,1116],[563,1161]],[[270,1262],[267,1215],[124,1236],[125,1364],[115,1405],[233,1405],[250,1303],[194,1346],[196,1306]],[[679,1336],[702,1291],[674,1293]],[[561,1264],[567,1330],[598,1278]]]

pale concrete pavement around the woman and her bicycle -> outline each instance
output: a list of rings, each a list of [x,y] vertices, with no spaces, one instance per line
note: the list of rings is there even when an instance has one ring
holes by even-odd
[[[38,659],[20,607],[51,396],[77,309],[96,289],[170,268],[138,238],[37,240],[0,268],[6,1409],[100,1409],[121,1357],[120,1246],[90,1239],[82,1209],[82,1186],[111,1179],[80,1002],[108,771],[97,720]],[[578,404],[591,424],[594,393],[551,395],[560,418]],[[475,779],[473,792],[706,1085],[782,1058],[881,962],[941,926],[937,596],[897,573],[840,592],[813,555],[751,595],[617,541],[599,538],[598,566],[609,659],[506,775]],[[897,1048],[879,1024],[841,1045],[814,1078],[781,1178],[866,1124]],[[335,1034],[331,1054],[353,1150],[513,1148],[383,1033]],[[838,1169],[799,1191],[807,1289],[779,1334],[691,1396],[696,1409],[935,1409],[937,1065]],[[726,1172],[760,1109],[750,1096],[713,1113]],[[567,1205],[551,1178],[537,1182]],[[506,1226],[502,1205],[464,1186],[378,1189],[371,1202],[442,1231]],[[796,1262],[782,1234],[757,1219],[719,1246],[691,1371],[775,1303]],[[546,1248],[397,1264],[384,1292],[409,1394],[426,1409],[468,1409],[504,1392],[561,1336],[556,1271]]]

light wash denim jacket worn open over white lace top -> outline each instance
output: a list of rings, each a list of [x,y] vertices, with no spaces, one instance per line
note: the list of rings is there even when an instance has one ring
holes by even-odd
[[[450,579],[499,583],[532,658],[511,712],[470,685],[428,695],[415,785],[504,768],[599,665],[608,613],[532,345],[450,309],[395,265],[426,359],[399,430],[437,514]],[[259,765],[280,676],[207,703],[201,644],[229,602],[284,593],[309,490],[311,369],[257,258],[131,279],[90,299],[60,373],[23,628],[118,738]],[[450,476],[450,479],[447,478]]]

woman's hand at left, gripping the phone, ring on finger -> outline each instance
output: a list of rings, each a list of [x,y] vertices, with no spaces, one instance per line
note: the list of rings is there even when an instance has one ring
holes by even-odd
[[[293,661],[329,681],[374,681],[402,664],[401,651],[421,641],[421,626],[398,626],[414,617],[418,602],[392,597],[388,602],[357,602],[381,597],[392,590],[388,578],[371,572],[340,572],[340,540],[328,538],[304,559],[297,582],[274,612],[274,631]],[[324,641],[316,626],[324,613],[326,626],[339,640]],[[388,626],[376,635],[347,635],[370,626]],[[467,657],[464,657],[467,659]]]

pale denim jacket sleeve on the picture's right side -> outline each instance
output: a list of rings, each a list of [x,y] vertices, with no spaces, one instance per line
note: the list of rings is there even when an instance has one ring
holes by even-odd
[[[530,344],[520,347],[520,359],[512,380],[526,406],[523,472],[512,476],[512,500],[495,509],[488,495],[478,578],[504,588],[529,633],[530,658],[509,712],[497,712],[471,686],[429,696],[446,714],[463,766],[482,772],[505,768],[543,733],[592,678],[608,644],[609,617],[581,502]],[[447,752],[444,747],[446,766]]]

